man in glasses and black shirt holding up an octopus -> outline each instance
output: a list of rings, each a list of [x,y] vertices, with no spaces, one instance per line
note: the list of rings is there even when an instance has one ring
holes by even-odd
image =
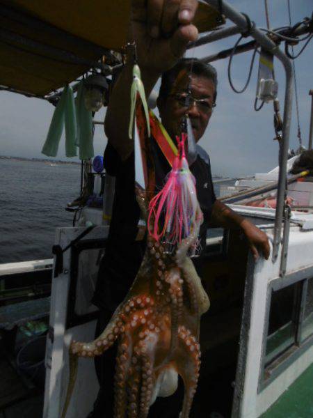
[[[161,74],[171,69],[163,76],[158,99],[161,121],[174,139],[180,132],[182,118],[187,113],[195,140],[199,141],[215,105],[217,79],[211,65],[203,65],[196,60],[179,61],[188,42],[195,40],[198,35],[192,24],[197,1],[134,0],[132,5],[132,33],[136,41],[145,93],[148,96]],[[127,134],[132,67],[129,54],[127,65],[113,87],[106,113],[105,130],[109,142],[104,161],[106,171],[115,176],[115,200],[108,246],[93,300],[101,309],[98,334],[127,294],[145,250],[145,240],[136,240],[139,209],[134,195],[134,142]],[[186,107],[185,98],[189,90],[190,105]],[[157,187],[161,187],[170,167],[156,144],[153,154]],[[255,258],[259,256],[259,251],[268,258],[266,234],[216,200],[209,158],[205,153],[202,155],[200,151],[191,171],[196,179],[198,200],[204,212],[204,224],[200,230],[202,239],[205,239],[209,223],[241,229]],[[111,348],[96,361],[102,389],[92,417],[113,417],[115,355],[115,348]],[[170,400],[157,399],[150,409],[149,417],[177,418],[180,407],[181,398],[177,391]]]

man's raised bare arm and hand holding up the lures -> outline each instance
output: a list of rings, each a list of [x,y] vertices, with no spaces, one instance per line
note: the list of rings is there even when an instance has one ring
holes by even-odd
[[[162,72],[175,65],[188,42],[198,37],[192,24],[197,6],[198,0],[132,0],[129,40],[136,42],[147,97]],[[106,137],[122,160],[134,149],[128,138],[132,67],[129,57],[111,92],[104,124]]]

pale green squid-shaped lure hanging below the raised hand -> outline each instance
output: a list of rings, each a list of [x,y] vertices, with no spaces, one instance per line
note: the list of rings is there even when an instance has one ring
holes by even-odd
[[[143,104],[143,110],[145,111],[145,119],[147,122],[147,133],[150,136],[149,109],[147,105],[147,100],[145,98],[145,87],[143,86],[143,82],[141,80],[141,70],[138,67],[138,65],[135,64],[133,68],[133,82],[131,84],[131,111],[128,132],[130,139],[133,138],[133,127],[136,113],[136,100],[138,97],[141,98],[141,102]]]

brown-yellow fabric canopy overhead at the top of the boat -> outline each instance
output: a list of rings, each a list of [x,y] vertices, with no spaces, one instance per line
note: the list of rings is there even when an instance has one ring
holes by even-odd
[[[0,88],[44,97],[127,42],[127,0],[0,0]],[[223,23],[199,3],[200,32]]]

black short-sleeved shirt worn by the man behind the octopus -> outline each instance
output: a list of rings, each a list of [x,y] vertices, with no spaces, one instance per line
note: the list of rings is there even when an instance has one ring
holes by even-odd
[[[190,169],[195,176],[198,201],[204,215],[200,227],[202,248],[207,237],[207,224],[216,196],[211,177],[209,155],[200,147]],[[159,146],[152,139],[152,151],[156,173],[156,189],[164,185],[170,165]],[[117,151],[108,143],[104,153],[104,167],[115,177],[113,215],[110,224],[106,252],[99,269],[93,304],[100,309],[115,310],[127,295],[143,260],[145,240],[136,241],[139,207],[134,193],[134,153],[122,161]]]

